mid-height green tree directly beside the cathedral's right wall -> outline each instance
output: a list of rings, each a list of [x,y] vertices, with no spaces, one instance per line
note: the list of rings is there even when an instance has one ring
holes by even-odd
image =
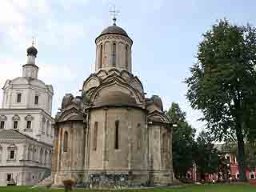
[[[185,178],[193,165],[195,130],[186,122],[186,113],[173,102],[167,113],[178,126],[173,130],[173,163],[176,178]]]

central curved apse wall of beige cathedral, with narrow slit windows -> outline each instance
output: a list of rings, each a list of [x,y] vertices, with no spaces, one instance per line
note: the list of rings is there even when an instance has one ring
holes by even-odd
[[[89,170],[146,170],[145,112],[126,107],[94,109],[90,112]],[[118,149],[115,129],[118,121]],[[94,126],[98,122],[97,149]]]

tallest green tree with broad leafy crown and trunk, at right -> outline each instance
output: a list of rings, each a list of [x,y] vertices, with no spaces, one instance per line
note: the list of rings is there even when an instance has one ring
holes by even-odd
[[[198,62],[186,78],[187,98],[204,114],[216,140],[235,138],[240,179],[245,177],[244,139],[255,134],[256,30],[220,20],[203,34]]]

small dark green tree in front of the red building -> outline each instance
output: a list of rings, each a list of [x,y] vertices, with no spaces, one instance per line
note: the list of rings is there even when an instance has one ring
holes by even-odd
[[[218,172],[218,150],[214,147],[214,139],[204,130],[198,135],[195,151],[195,162],[201,178],[204,178],[205,174],[209,176]]]

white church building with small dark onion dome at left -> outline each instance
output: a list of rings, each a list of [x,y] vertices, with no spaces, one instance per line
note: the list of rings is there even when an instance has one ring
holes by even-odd
[[[50,175],[53,86],[38,79],[38,50],[27,49],[22,77],[7,80],[0,108],[0,186],[30,186]]]

